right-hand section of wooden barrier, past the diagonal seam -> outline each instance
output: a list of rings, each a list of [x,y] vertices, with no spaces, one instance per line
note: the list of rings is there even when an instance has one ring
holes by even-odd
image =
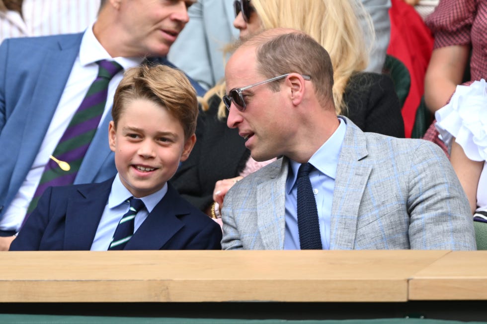
[[[409,281],[409,300],[486,299],[487,251],[451,252]]]

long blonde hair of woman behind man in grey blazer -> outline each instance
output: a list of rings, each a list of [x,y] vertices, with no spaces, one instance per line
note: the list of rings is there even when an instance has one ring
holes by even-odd
[[[366,39],[375,39],[370,15],[358,0],[251,0],[262,28],[276,27],[300,30],[325,48],[333,66],[333,101],[337,114],[346,112],[343,93],[350,76],[364,70],[369,61],[370,48]],[[364,17],[366,26],[358,17]],[[362,32],[366,27],[365,32]],[[370,35],[369,37],[366,37]],[[203,98],[225,94],[225,86],[217,85]],[[205,100],[206,98],[206,100]],[[223,105],[223,104],[222,104]],[[224,106],[224,105],[223,105]],[[223,107],[225,109],[225,107]],[[226,116],[219,109],[218,116]]]

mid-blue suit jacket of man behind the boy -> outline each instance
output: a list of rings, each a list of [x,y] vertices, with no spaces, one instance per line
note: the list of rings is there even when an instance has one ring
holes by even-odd
[[[0,218],[17,194],[49,128],[83,33],[7,39],[0,46]],[[154,60],[171,65],[165,58]],[[199,95],[204,90],[191,82]],[[102,182],[117,170],[108,146],[107,114],[75,184]]]

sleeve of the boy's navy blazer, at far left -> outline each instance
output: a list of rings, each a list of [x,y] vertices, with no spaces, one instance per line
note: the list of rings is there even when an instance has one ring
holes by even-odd
[[[15,240],[10,245],[10,251],[39,251],[40,243],[49,223],[52,187],[42,194],[37,207],[27,218]]]

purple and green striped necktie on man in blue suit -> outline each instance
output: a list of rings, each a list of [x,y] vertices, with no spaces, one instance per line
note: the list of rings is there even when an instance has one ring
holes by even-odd
[[[83,157],[103,115],[108,83],[115,74],[122,70],[122,66],[114,61],[101,60],[96,64],[99,67],[98,75],[91,83],[80,107],[59,140],[51,159],[46,164],[34,197],[27,208],[24,223],[48,187],[71,185],[75,181]],[[62,162],[55,162],[57,159]]]

